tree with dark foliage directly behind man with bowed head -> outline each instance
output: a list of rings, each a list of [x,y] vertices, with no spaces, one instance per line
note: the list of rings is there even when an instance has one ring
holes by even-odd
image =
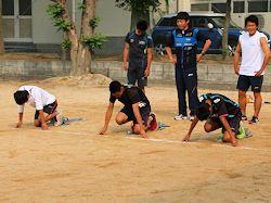
[[[139,20],[145,20],[150,24],[150,11],[159,9],[159,0],[115,0],[116,7],[131,11],[130,30],[134,29]]]

